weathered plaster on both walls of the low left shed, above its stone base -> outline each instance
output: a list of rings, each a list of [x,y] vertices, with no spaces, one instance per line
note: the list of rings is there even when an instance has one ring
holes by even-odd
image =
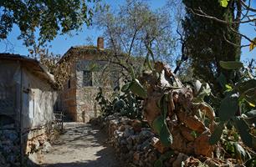
[[[21,80],[23,80],[22,91]],[[57,95],[50,84],[45,79],[38,78],[29,69],[21,69],[18,62],[1,61],[0,107],[3,106],[0,113],[13,114],[13,118],[19,121],[21,93],[23,94],[23,128],[37,127],[54,119],[54,103]]]

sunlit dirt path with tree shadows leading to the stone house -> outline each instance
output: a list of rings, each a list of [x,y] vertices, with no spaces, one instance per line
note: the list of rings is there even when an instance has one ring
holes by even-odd
[[[107,136],[90,124],[66,123],[53,150],[44,154],[44,167],[119,167],[112,148],[107,147]]]

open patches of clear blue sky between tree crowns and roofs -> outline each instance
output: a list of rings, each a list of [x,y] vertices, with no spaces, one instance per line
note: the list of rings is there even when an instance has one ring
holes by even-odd
[[[125,0],[104,0],[104,2],[110,4],[110,8],[118,8],[120,4],[125,3]],[[149,3],[151,8],[161,8],[165,5],[166,0],[149,0]],[[256,7],[255,2],[253,2],[253,7]],[[240,32],[246,34],[249,38],[256,37],[253,27],[248,25],[242,25]],[[18,35],[19,29],[17,26],[14,26],[13,31],[8,36],[8,41],[0,41],[0,52],[28,55],[28,49],[23,46],[22,40],[17,39]],[[78,32],[77,34],[74,32],[71,37],[69,35],[59,35],[50,43],[51,48],[49,48],[49,51],[63,55],[72,46],[88,44],[86,38],[91,38],[92,42],[96,44],[96,39],[100,35],[102,35],[100,30],[93,27],[86,28],[84,26],[82,32]],[[248,44],[248,41],[243,40],[242,43]],[[8,48],[6,48],[6,44],[8,44]],[[248,47],[242,48],[242,60],[248,58],[256,58],[256,48],[252,52],[248,52]]]

